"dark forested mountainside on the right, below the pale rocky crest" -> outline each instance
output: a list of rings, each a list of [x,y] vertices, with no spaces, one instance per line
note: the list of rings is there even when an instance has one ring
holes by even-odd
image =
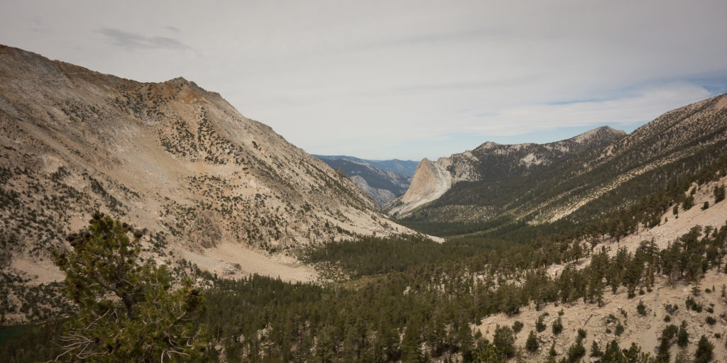
[[[430,234],[451,236],[486,231],[503,221],[600,219],[635,203],[644,205],[640,199],[655,192],[672,190],[684,177],[722,158],[726,146],[727,94],[722,94],[664,113],[614,142],[550,160],[547,167],[524,168],[523,155],[517,152],[494,152],[487,158],[477,154],[477,162],[467,161],[476,177],[453,184],[401,221]],[[450,168],[464,166],[453,163]]]

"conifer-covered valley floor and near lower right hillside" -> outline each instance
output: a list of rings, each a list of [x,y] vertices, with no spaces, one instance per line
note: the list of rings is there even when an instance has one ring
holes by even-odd
[[[724,217],[726,174],[720,160],[687,177],[677,189],[684,197],[664,208],[672,219],[659,224],[677,222],[675,210],[682,219],[710,209]],[[707,204],[690,205],[690,197]],[[642,234],[649,229],[638,225]],[[441,244],[419,237],[329,242],[300,251],[326,276],[316,284],[257,275],[225,280],[192,267],[181,273],[205,281],[204,314],[190,322],[206,332],[199,359],[710,362],[726,351],[724,222],[694,225],[667,241],[640,240],[630,229],[529,228],[540,237],[516,242],[523,227]],[[65,315],[69,322],[76,309]],[[584,323],[580,314],[590,318]],[[51,359],[68,324],[47,322],[4,343],[1,353],[9,362]],[[642,341],[644,329],[658,334]],[[21,348],[33,341],[39,348]]]

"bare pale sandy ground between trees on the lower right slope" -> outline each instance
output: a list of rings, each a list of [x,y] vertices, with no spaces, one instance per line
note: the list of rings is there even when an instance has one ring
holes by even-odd
[[[635,253],[643,241],[654,242],[659,250],[673,245],[680,237],[688,234],[694,227],[710,230],[715,234],[727,223],[727,203],[715,203],[712,193],[715,187],[727,185],[727,177],[711,181],[702,185],[692,184],[689,189],[695,188],[695,205],[709,203],[706,209],[693,207],[688,211],[680,211],[675,218],[671,209],[662,214],[662,223],[653,228],[642,226],[640,232],[629,234],[616,242],[605,238],[593,245],[594,251],[602,249],[608,256],[616,255],[620,248],[629,253]],[[586,247],[585,249],[589,249]],[[548,266],[545,273],[556,278],[566,269],[582,270],[590,264],[592,256],[572,261],[568,264]],[[650,289],[640,289],[635,297],[628,297],[624,287],[616,289],[616,293],[606,293],[601,306],[584,301],[572,301],[562,304],[549,304],[537,307],[534,304],[520,309],[518,314],[495,314],[486,317],[476,329],[491,339],[495,328],[499,326],[513,326],[517,322],[523,323],[520,333],[516,335],[515,346],[523,348],[521,355],[526,362],[545,362],[548,359],[550,347],[555,348],[557,359],[569,354],[569,348],[577,340],[577,331],[585,330],[587,335],[582,345],[591,351],[593,342],[605,350],[611,340],[616,340],[622,348],[628,348],[636,343],[644,352],[656,356],[661,343],[659,338],[668,325],[680,326],[686,322],[688,345],[680,347],[672,344],[668,350],[671,362],[675,357],[686,356],[686,362],[692,362],[697,343],[702,335],[714,344],[714,357],[712,362],[727,362],[727,295],[724,289],[727,285],[726,270],[721,267],[707,270],[699,284],[687,281],[670,282],[662,273],[654,277],[654,286]],[[695,290],[696,293],[695,293]],[[686,304],[691,299],[699,306],[691,309]],[[643,303],[645,310],[639,313],[638,306]],[[524,347],[531,330],[537,331],[536,322],[543,317],[545,330],[537,333],[539,348],[532,353]],[[553,333],[552,325],[560,317],[563,332]],[[710,320],[712,318],[712,320]],[[621,328],[617,328],[621,325]],[[620,331],[619,331],[620,330]],[[593,361],[592,361],[593,362]]]

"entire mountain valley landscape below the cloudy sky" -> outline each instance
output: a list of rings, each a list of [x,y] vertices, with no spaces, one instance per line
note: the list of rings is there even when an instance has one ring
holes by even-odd
[[[726,362],[727,94],[364,160],[0,46],[0,130],[7,362]]]

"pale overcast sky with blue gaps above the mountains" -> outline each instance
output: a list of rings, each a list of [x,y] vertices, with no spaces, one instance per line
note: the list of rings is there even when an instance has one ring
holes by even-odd
[[[727,91],[727,1],[9,1],[0,44],[217,91],[320,155],[631,132]]]

